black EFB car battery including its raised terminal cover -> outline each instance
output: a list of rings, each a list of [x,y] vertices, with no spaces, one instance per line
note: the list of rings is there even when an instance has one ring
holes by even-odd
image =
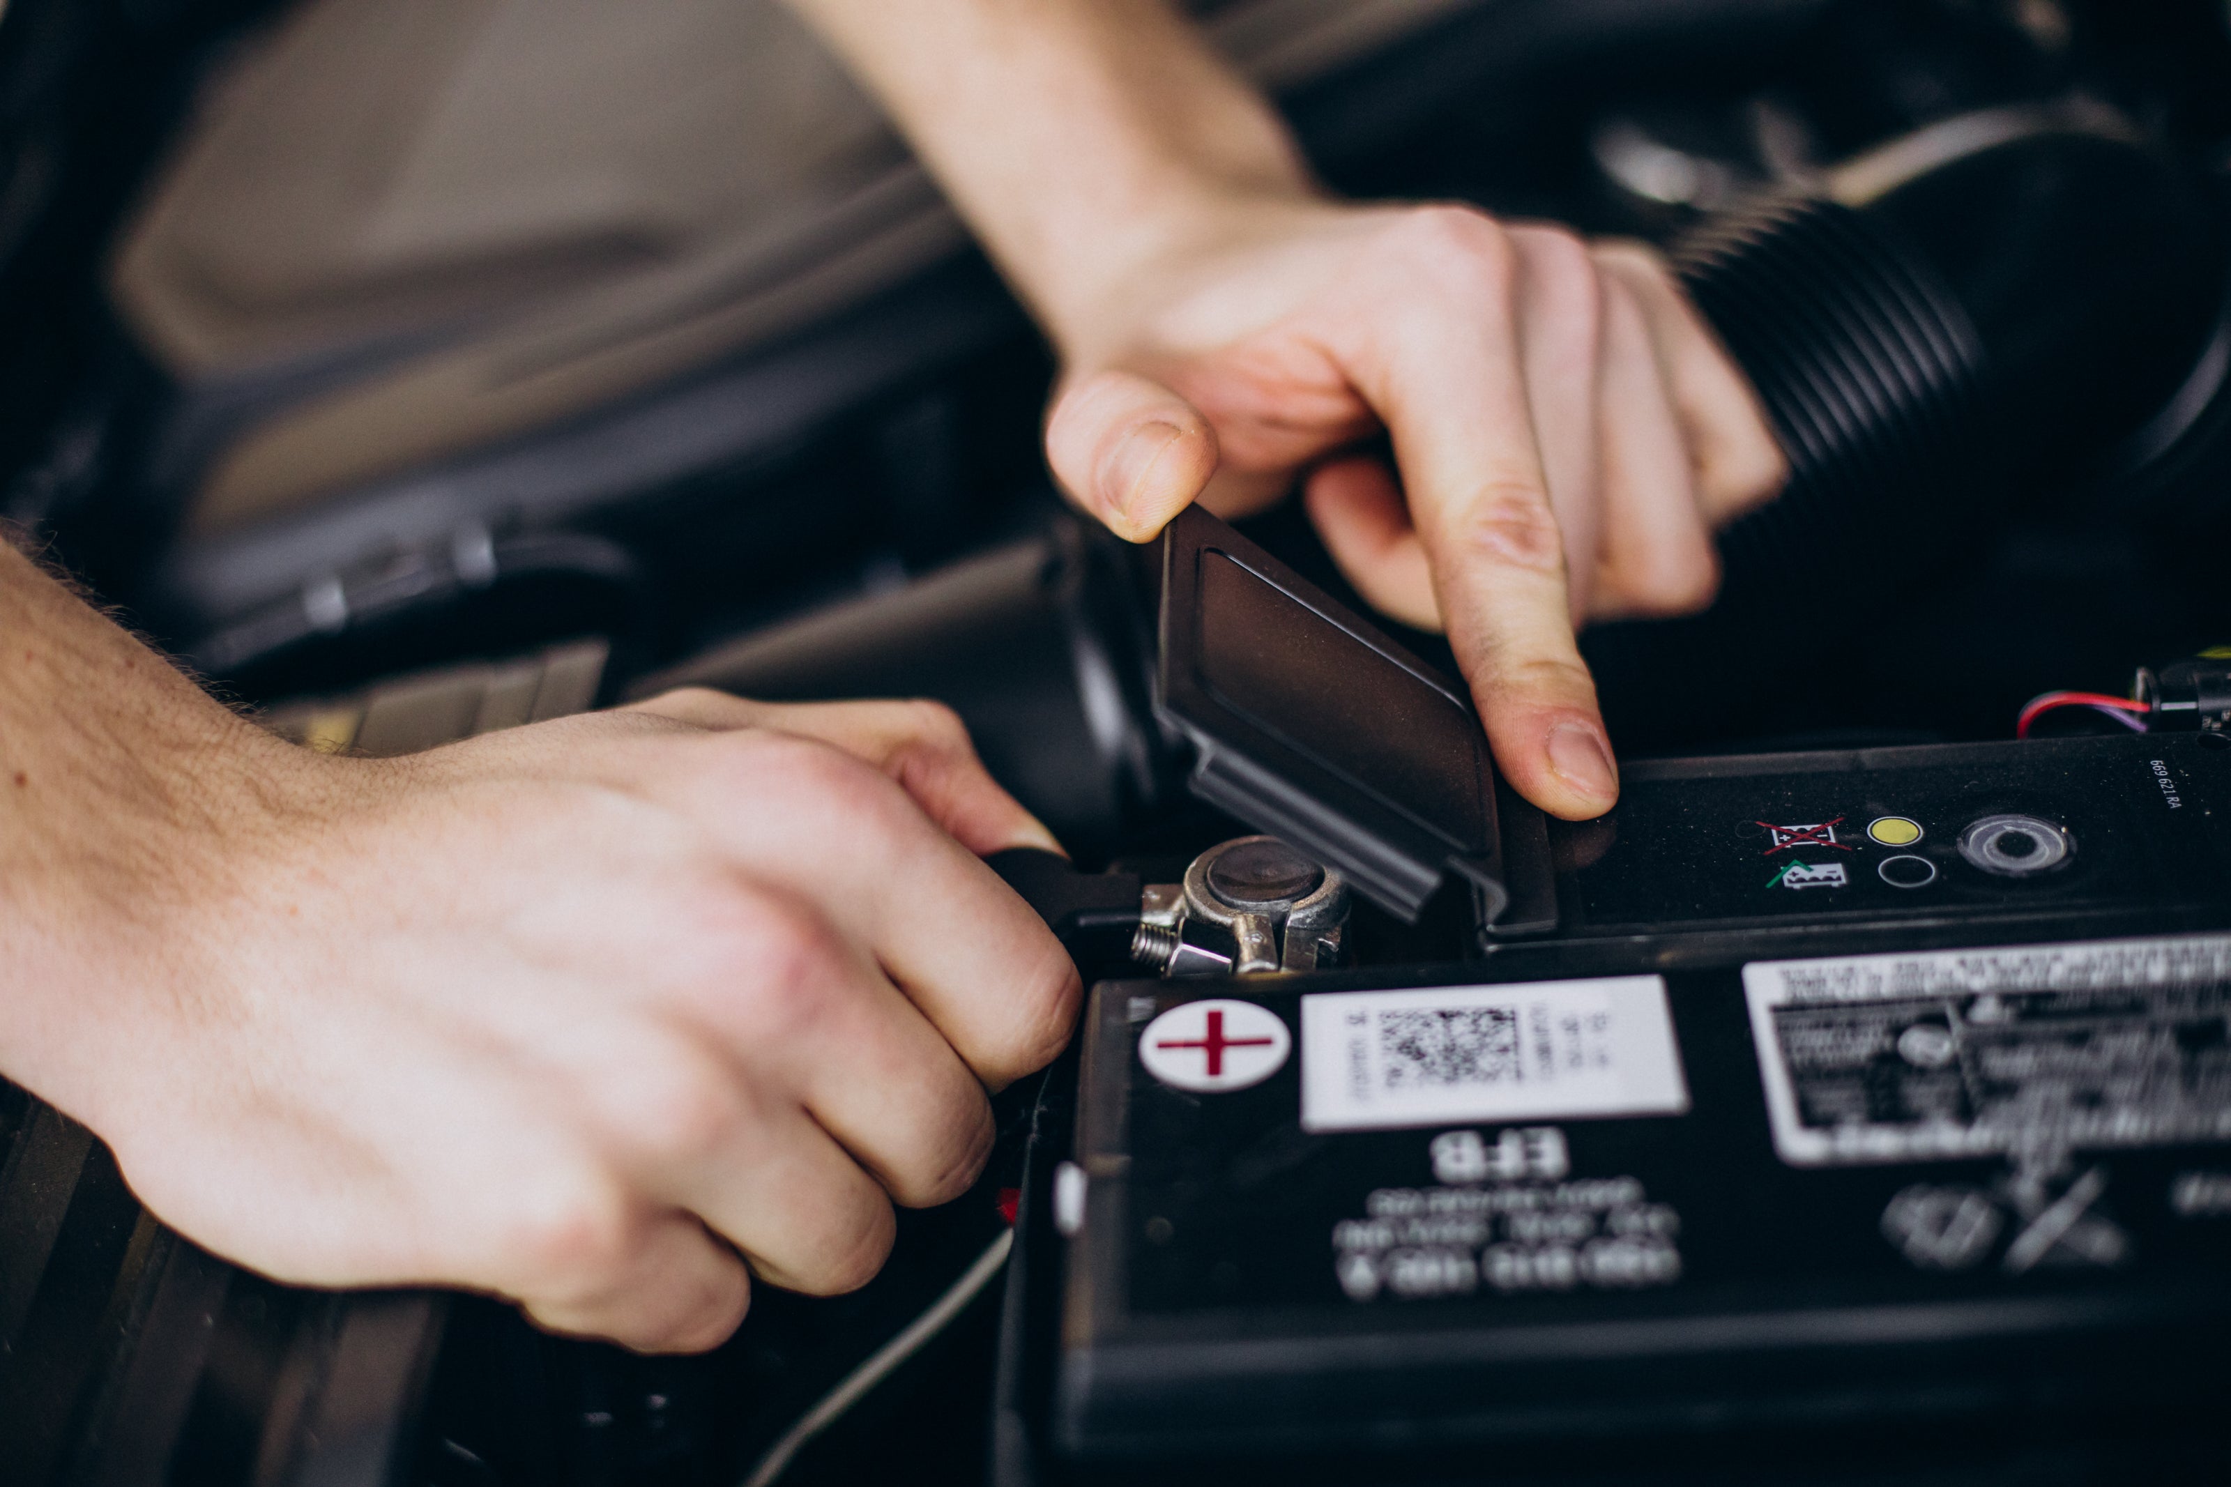
[[[1203,794],[1479,934],[1093,988],[1024,1199],[1008,1480],[1626,1447],[1620,1480],[1667,1480],[1669,1438],[1986,1420],[2220,1451],[2222,740],[1642,762],[1611,816],[1544,820],[1452,687],[1207,517],[1169,548],[1162,704]],[[1234,633],[1247,606],[1267,629]],[[1285,680],[1234,696],[1218,647]],[[1312,731],[1325,698],[1406,727]]]

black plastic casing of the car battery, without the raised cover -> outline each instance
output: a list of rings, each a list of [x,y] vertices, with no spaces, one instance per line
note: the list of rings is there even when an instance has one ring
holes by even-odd
[[[1988,872],[1961,843],[1992,818],[2053,823],[2066,852],[2030,876]],[[1919,838],[1874,840],[1881,820]],[[1129,1478],[1352,1458],[1399,1476],[1390,1462],[1468,1442],[1870,1431],[2006,1411],[2204,1429],[2231,1382],[2231,985],[2209,970],[2224,952],[2209,932],[2231,930],[2231,749],[2131,736],[1640,765],[1613,816],[1553,823],[1551,856],[1559,927],[1481,961],[1093,990],[1075,1130],[1055,1108],[1024,1204],[1008,1460]],[[1892,858],[1908,863],[1883,872]],[[1812,885],[1783,881],[1791,861]],[[1919,885],[1916,861],[1930,869]],[[2128,945],[2082,950],[2117,941]],[[2015,950],[2041,945],[2077,950]],[[1798,1008],[1765,1030],[1745,990],[1745,965],[1948,950],[1974,950],[1959,965],[1983,968],[1981,981]],[[2053,990],[2050,968],[2095,961],[2137,968],[2135,985],[2066,972]],[[1932,997],[1974,1012],[1959,999],[1992,974],[2050,997],[2021,1003],[2012,1041],[1970,1026],[1945,1068],[1966,1077],[1970,1048],[1990,1043],[1997,1095],[1968,1090],[1970,1104],[1995,1099],[2003,1133],[2030,1101],[2035,1139],[1854,1146],[1825,1162],[1778,1148],[1769,1066],[1805,1066],[1800,1104],[1825,1101],[1807,1117],[1820,1130],[1836,1128],[1836,1099],[1865,1106],[1854,1130],[1879,1106],[1896,1124],[1959,1079],[1916,1072],[1894,1034],[1934,1028]],[[1303,1128],[1305,997],[1551,983],[1537,992],[1548,1005],[1555,983],[1602,976],[1662,979],[1682,1112]],[[1162,1083],[1140,1034],[1198,999],[1269,1010],[1294,1057],[1243,1090]],[[1798,1026],[1807,1017],[1818,1026]],[[1852,1039],[1874,1039],[1872,1052]],[[1954,1112],[1937,1128],[1957,1126]],[[1472,1130],[1508,1153],[1544,1128],[1562,1170],[1437,1179],[1437,1137]],[[1046,1193],[1064,1153],[1084,1190],[1073,1235],[1055,1231]],[[1914,1213],[1968,1215],[1990,1235],[1948,1262],[1901,1240]],[[1533,1215],[1519,1226],[1530,1240],[1513,1215]],[[1551,1266],[1530,1284],[1513,1246],[1539,1251],[1559,1224],[1573,1253],[1642,1235],[1655,1271],[1595,1284]],[[1359,1233],[1385,1240],[1381,1271],[1423,1235],[1408,1248],[1439,1246],[1446,1275],[1470,1264],[1472,1277],[1352,1293],[1341,1237]]]

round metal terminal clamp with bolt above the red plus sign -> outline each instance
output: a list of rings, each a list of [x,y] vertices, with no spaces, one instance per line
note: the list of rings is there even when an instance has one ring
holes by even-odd
[[[1187,925],[1203,925],[1203,939],[1218,945],[1187,939]],[[1140,892],[1131,959],[1165,976],[1316,970],[1341,959],[1345,936],[1341,874],[1276,836],[1238,836],[1196,856],[1185,883]]]

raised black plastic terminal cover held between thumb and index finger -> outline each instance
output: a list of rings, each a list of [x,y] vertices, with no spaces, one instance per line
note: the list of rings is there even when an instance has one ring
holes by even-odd
[[[1162,535],[1156,711],[1191,789],[1414,923],[1450,874],[1508,903],[1495,765],[1464,689],[1200,511]]]

